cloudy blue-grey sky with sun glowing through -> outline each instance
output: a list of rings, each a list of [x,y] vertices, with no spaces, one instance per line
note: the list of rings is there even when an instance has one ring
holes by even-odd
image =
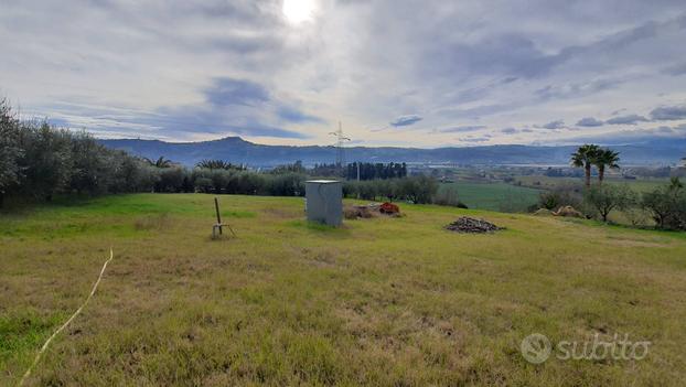
[[[684,0],[2,2],[0,97],[100,138],[686,137]]]

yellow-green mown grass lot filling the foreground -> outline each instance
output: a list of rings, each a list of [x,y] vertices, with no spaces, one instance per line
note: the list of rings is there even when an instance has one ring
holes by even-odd
[[[686,236],[404,205],[303,222],[301,198],[142,194],[0,215],[0,385],[680,386]],[[460,215],[505,230],[460,235]],[[650,341],[641,361],[526,362],[519,343]]]

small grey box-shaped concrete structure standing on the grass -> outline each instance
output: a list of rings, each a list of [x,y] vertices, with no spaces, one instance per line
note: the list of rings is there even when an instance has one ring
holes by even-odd
[[[304,183],[308,221],[340,226],[343,221],[343,184],[335,180]]]

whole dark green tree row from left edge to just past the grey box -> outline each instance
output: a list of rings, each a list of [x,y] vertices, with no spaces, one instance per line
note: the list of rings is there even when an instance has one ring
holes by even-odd
[[[376,180],[346,182],[347,196],[430,203],[438,189],[433,179],[408,178],[405,164],[367,163],[361,171],[364,179]],[[315,172],[321,170],[301,162],[261,173],[223,160],[203,160],[189,169],[163,157],[138,158],[106,148],[85,131],[20,120],[0,100],[0,206],[8,197],[33,202],[135,192],[301,196],[304,181]]]

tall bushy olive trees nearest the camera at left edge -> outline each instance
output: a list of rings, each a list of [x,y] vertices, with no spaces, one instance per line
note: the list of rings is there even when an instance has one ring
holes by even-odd
[[[62,193],[139,192],[153,182],[143,160],[107,149],[86,132],[21,121],[0,100],[0,205],[7,197],[51,201]]]

